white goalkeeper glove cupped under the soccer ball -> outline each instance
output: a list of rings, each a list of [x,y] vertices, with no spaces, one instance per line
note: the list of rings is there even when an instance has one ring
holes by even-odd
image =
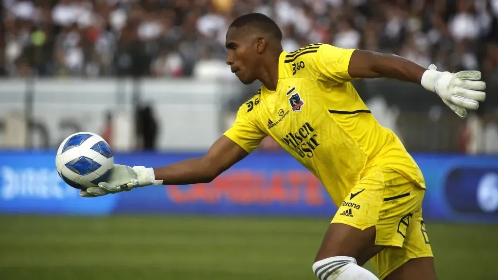
[[[114,164],[106,182],[99,183],[98,187],[89,187],[80,191],[83,197],[103,196],[109,193],[129,191],[132,188],[148,185],[162,185],[162,180],[156,180],[154,170],[144,166],[129,167]]]

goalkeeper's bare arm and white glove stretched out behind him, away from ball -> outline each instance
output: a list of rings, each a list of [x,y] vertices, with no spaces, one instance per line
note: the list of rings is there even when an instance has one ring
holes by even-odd
[[[351,55],[348,73],[352,78],[392,78],[421,84],[426,90],[437,93],[444,103],[460,118],[466,110],[477,110],[486,99],[486,83],[479,71],[458,73],[439,72],[433,64],[429,69],[393,54],[355,50]]]

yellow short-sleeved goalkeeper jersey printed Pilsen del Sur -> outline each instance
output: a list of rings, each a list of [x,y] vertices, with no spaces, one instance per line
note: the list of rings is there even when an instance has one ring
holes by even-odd
[[[318,177],[336,205],[374,166],[425,188],[401,141],[377,123],[351,84],[353,51],[313,44],[282,52],[276,90],[263,85],[224,134],[249,153],[270,136]]]

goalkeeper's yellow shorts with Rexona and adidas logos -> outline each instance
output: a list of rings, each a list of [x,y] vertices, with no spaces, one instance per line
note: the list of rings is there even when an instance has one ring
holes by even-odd
[[[375,226],[375,245],[392,246],[372,259],[380,279],[410,259],[433,256],[422,219],[424,192],[390,168],[372,168],[339,206],[332,223]]]

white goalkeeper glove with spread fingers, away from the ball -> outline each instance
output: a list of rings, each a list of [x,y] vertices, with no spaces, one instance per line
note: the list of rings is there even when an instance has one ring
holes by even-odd
[[[477,110],[479,101],[486,99],[486,83],[481,81],[479,71],[439,72],[431,64],[422,75],[421,84],[426,90],[437,93],[462,119],[467,117],[467,109]]]

